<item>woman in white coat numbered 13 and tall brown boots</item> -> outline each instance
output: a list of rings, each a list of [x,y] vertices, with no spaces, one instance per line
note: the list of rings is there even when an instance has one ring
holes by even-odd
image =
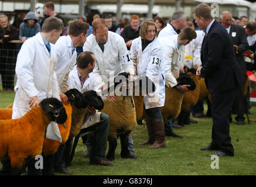
[[[165,147],[165,127],[160,107],[165,104],[165,70],[163,68],[162,48],[156,38],[156,25],[145,20],[141,25],[140,37],[132,41],[131,58],[138,77],[146,75],[156,86],[156,91],[144,96],[148,141],[140,145],[153,144],[149,148]]]

